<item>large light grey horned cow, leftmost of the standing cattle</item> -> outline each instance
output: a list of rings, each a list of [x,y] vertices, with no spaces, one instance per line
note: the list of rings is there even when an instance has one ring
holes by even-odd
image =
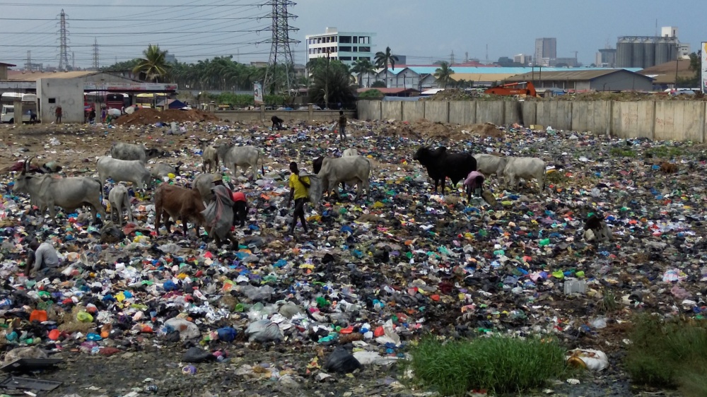
[[[40,177],[27,174],[32,158],[25,161],[25,168],[15,179],[13,191],[30,195],[30,199],[40,207],[44,215],[49,208],[49,216],[57,216],[55,206],[64,208],[67,213],[87,205],[91,208],[93,222],[98,222],[97,213],[105,219],[105,208],[100,201],[103,184],[92,177],[54,177],[49,174]]]

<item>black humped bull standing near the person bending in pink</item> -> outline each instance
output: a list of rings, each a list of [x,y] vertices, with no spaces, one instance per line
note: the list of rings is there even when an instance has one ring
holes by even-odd
[[[445,189],[445,179],[449,177],[452,186],[466,179],[469,172],[477,170],[477,160],[469,153],[448,153],[445,146],[440,146],[432,150],[429,146],[421,146],[412,156],[413,160],[420,162],[427,169],[429,176],[435,181],[435,193],[437,185],[442,185],[442,193]]]

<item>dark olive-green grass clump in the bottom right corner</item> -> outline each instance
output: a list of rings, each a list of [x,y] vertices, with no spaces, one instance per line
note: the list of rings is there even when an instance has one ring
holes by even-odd
[[[707,396],[707,321],[646,314],[633,321],[629,339],[626,370],[633,382]]]

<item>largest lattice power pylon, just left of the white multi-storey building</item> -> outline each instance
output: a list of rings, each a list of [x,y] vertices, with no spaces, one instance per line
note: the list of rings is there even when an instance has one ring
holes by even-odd
[[[269,40],[271,43],[270,59],[267,64],[267,71],[265,71],[263,90],[269,89],[270,93],[273,94],[276,85],[282,83],[278,80],[284,79],[285,87],[289,93],[295,80],[295,64],[292,59],[290,45],[299,44],[299,40],[293,40],[290,37],[290,32],[296,32],[299,29],[290,25],[289,20],[297,18],[297,16],[289,13],[287,7],[295,6],[296,3],[290,0],[270,0],[263,5],[272,7],[272,12],[268,15],[268,18],[272,19],[272,25],[270,28],[265,29],[272,32],[272,37]],[[283,64],[285,67],[284,76],[278,76],[278,73],[276,73],[278,63]]]

